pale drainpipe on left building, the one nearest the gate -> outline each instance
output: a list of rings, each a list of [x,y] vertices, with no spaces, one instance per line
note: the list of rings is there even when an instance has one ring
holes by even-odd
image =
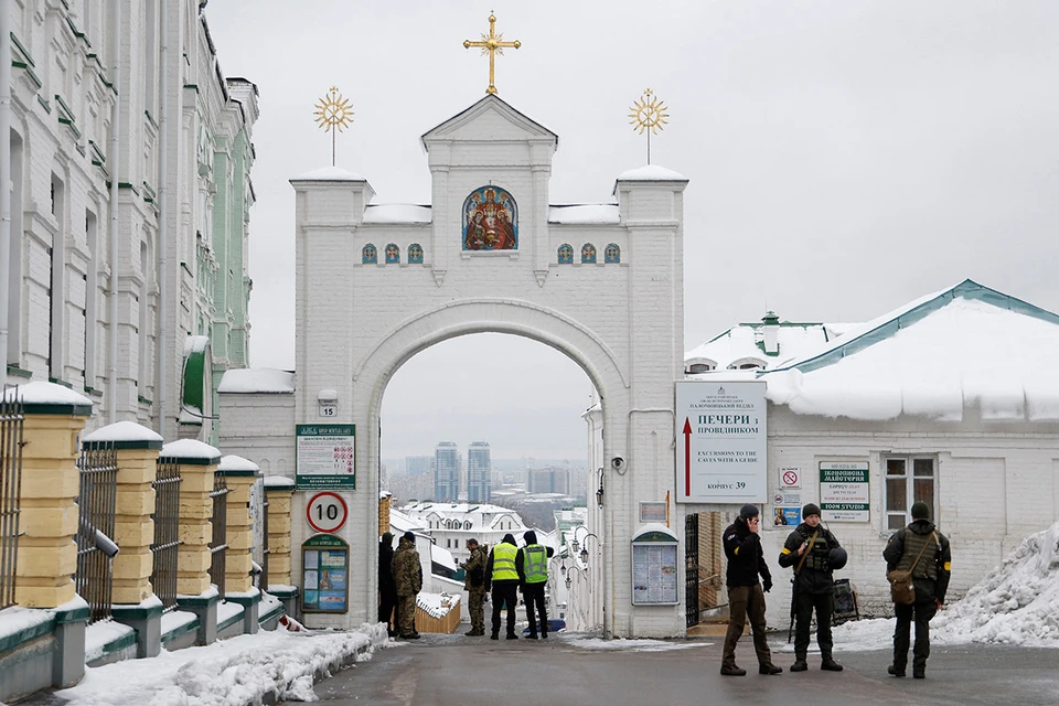
[[[158,361],[158,387],[154,391],[158,397],[158,417],[154,424],[154,430],[162,437],[165,436],[165,410],[169,408],[169,212],[167,202],[169,197],[169,107],[165,101],[169,99],[169,3],[159,4],[161,10],[161,28],[159,35],[161,43],[159,47],[161,55],[159,60],[160,76],[158,81],[159,101],[158,101],[158,335],[156,338],[156,360]]]

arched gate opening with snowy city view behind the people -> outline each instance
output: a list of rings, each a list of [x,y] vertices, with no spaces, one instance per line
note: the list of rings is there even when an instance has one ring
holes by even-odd
[[[530,530],[552,549],[549,620],[581,630],[601,624],[602,607],[590,600],[603,561],[590,461],[593,446],[601,453],[592,431],[601,421],[591,420],[601,415],[599,400],[568,354],[507,333],[445,340],[394,372],[379,404],[381,525],[388,523],[394,546],[406,531],[417,537],[426,596],[417,624],[449,631],[453,621],[424,613],[428,606],[451,610],[453,596],[469,619],[467,539],[492,547],[511,533],[523,546]]]

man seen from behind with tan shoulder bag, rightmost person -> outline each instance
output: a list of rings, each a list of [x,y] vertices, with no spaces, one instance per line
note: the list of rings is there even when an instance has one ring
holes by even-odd
[[[916,645],[912,648],[912,676],[927,676],[927,657],[930,656],[930,619],[939,608],[945,607],[949,576],[952,568],[952,552],[949,538],[938,532],[930,521],[930,506],[917,501],[911,507],[912,522],[894,533],[882,558],[887,573],[911,570],[916,587],[916,602],[911,606],[896,603],[897,629],[894,631],[894,664],[886,671],[892,676],[905,676],[908,665],[908,637],[916,614]]]

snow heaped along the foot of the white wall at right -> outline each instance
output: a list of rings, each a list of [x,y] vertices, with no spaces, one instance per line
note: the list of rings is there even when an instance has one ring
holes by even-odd
[[[894,625],[892,618],[847,622],[834,630],[835,650],[888,650]],[[930,641],[1059,648],[1059,523],[1027,537],[962,600],[939,611]]]

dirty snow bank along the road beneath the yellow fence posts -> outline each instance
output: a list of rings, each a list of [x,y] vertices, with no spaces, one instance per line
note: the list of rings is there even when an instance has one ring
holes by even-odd
[[[77,686],[58,692],[74,706],[244,706],[275,691],[280,700],[315,700],[315,673],[351,657],[371,659],[387,642],[382,623],[357,632],[260,632],[204,648],[87,668]]]

